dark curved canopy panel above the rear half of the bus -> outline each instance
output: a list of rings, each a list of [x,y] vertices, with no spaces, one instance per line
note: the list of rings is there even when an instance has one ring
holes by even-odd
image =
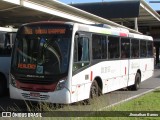
[[[139,16],[139,0],[71,4],[103,18],[133,18]]]

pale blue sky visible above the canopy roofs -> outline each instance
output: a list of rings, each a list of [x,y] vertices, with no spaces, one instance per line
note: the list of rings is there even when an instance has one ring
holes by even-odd
[[[102,2],[102,1],[113,1],[113,0],[59,0],[62,3],[71,4],[71,3],[89,3],[89,2]],[[146,0],[146,2],[149,3],[149,1],[159,1],[160,0]],[[160,3],[149,3],[149,5],[154,10],[160,10]]]

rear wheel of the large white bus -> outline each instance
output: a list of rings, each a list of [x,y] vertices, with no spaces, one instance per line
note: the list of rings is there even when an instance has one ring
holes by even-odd
[[[135,76],[135,83],[132,86],[132,90],[138,90],[140,88],[140,83],[141,83],[141,75],[139,73],[136,74]]]

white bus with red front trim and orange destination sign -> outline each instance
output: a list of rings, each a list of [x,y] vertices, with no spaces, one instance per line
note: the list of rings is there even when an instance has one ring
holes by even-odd
[[[10,97],[69,104],[153,75],[153,39],[120,28],[70,22],[24,24],[17,32]]]

